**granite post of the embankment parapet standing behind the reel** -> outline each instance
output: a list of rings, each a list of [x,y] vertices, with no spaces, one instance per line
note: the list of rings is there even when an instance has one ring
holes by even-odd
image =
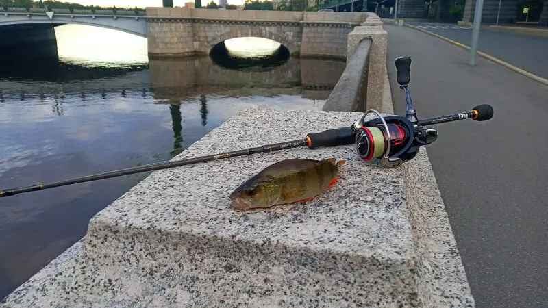
[[[366,63],[364,79],[366,84],[367,109],[382,109],[384,75],[386,73],[386,48],[388,33],[382,28],[382,21],[376,14],[370,13],[361,26],[355,27],[348,35],[347,62],[352,57],[356,47],[364,38],[371,38],[369,60]]]

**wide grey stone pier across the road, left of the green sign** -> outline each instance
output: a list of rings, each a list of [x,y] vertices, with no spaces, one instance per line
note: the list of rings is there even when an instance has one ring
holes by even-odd
[[[474,22],[476,0],[466,0],[462,21]],[[502,0],[499,23],[515,23],[517,16],[517,0]],[[499,12],[499,0],[484,0],[482,23],[496,23]]]

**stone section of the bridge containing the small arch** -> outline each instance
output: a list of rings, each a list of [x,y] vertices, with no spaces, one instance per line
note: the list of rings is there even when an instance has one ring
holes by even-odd
[[[365,12],[284,12],[147,8],[149,55],[208,54],[224,40],[255,36],[275,40],[291,55],[346,57],[348,34]]]

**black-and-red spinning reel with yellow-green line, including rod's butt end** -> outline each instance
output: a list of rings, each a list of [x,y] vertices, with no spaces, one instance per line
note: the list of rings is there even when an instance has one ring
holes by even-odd
[[[411,103],[411,94],[408,84],[411,80],[410,57],[398,57],[395,60],[397,83],[399,88],[406,92],[406,116],[382,116],[377,110],[367,110],[364,116],[352,126],[356,132],[355,144],[360,158],[368,161],[381,158],[385,167],[399,166],[403,162],[413,159],[421,146],[431,144],[438,138],[438,131],[426,125],[451,122],[454,120],[484,121],[493,118],[493,107],[478,105],[471,111],[462,114],[451,114],[436,118],[419,120],[415,107]],[[377,114],[378,118],[364,123],[370,113]]]

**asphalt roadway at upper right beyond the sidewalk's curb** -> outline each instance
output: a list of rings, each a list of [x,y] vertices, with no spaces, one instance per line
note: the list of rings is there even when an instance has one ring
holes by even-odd
[[[411,22],[408,24],[445,36],[466,46],[472,44],[471,27],[447,23]],[[548,79],[548,37],[480,29],[478,50]]]

